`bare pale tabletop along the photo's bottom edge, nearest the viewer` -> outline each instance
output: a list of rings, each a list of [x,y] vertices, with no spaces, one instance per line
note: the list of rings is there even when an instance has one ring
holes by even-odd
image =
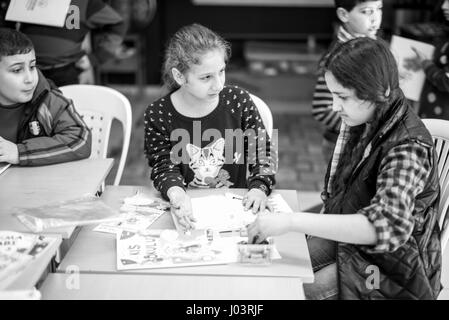
[[[303,300],[291,278],[160,274],[50,274],[45,300]]]

